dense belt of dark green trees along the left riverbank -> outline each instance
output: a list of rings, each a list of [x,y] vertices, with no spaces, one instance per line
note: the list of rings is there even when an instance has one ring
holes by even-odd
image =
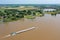
[[[4,22],[13,21],[20,18],[24,18],[24,15],[35,16],[36,12],[42,14],[41,10],[17,10],[17,9],[4,9],[0,11],[0,19]]]

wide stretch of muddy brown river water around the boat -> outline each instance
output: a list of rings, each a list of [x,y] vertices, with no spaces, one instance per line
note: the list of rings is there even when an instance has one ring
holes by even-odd
[[[36,17],[36,19],[21,19],[9,23],[0,23],[0,38],[11,32],[32,26],[35,26],[36,29],[0,40],[60,40],[59,14],[57,16],[45,14],[44,17]]]

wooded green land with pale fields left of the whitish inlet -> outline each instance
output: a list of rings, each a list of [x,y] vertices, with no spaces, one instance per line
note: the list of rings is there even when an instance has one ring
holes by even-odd
[[[41,14],[41,15],[40,15]],[[35,18],[35,16],[44,15],[40,9],[35,7],[16,7],[16,8],[1,8],[0,19],[3,22],[18,20],[21,18]]]

